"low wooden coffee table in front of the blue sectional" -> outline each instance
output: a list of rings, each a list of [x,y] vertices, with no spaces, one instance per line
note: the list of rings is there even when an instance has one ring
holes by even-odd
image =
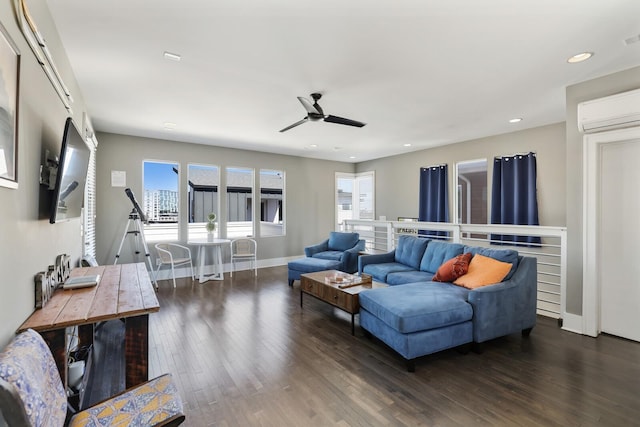
[[[351,335],[355,335],[354,317],[360,311],[358,294],[365,289],[386,288],[388,285],[371,281],[357,286],[340,288],[340,286],[348,286],[348,284],[333,283],[325,280],[340,274],[344,275],[345,273],[336,270],[325,270],[302,274],[300,276],[300,307],[302,307],[302,295],[307,294],[346,311],[351,314]]]

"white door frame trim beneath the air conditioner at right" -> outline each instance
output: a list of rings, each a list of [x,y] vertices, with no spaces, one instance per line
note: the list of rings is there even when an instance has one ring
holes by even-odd
[[[585,135],[583,173],[582,328],[585,335],[600,333],[600,158],[605,144],[636,140],[640,127]]]

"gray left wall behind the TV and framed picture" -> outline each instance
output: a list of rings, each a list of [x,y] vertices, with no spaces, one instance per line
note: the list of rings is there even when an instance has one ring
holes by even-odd
[[[64,49],[45,2],[29,2],[31,14],[47,41],[56,65],[75,102],[74,120],[82,126],[84,101],[70,71]],[[36,62],[18,28],[13,2],[0,4],[0,21],[21,53],[18,125],[18,189],[0,187],[0,345],[33,312],[34,275],[53,264],[56,255],[71,255],[74,264],[81,256],[80,220],[49,224],[40,211],[39,167],[45,148],[59,153],[66,109]],[[45,192],[46,193],[46,192]]]

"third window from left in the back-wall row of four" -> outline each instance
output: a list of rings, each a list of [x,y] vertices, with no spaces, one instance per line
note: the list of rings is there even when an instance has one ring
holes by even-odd
[[[227,237],[253,235],[253,169],[227,168]]]

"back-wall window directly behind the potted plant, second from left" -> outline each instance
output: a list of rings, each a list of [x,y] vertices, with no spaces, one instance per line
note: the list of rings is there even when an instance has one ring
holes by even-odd
[[[220,223],[220,169],[218,166],[190,164],[187,167],[187,195],[189,200],[189,239],[207,237],[207,216],[216,214]],[[219,236],[220,227],[213,232]]]

